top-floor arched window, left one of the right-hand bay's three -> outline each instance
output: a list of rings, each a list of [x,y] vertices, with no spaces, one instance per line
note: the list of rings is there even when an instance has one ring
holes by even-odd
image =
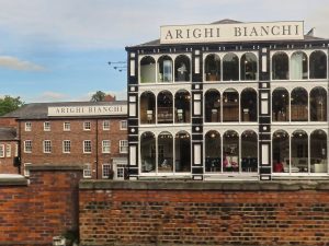
[[[272,80],[288,80],[290,61],[285,52],[275,52],[272,57]]]

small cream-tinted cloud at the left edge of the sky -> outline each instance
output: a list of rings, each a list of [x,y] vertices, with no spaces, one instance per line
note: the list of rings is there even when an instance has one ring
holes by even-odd
[[[45,71],[42,66],[11,56],[0,56],[0,67],[22,71]]]

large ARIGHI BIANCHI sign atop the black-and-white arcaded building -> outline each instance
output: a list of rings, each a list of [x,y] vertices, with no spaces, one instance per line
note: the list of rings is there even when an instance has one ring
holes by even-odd
[[[161,26],[161,44],[304,39],[304,22]]]

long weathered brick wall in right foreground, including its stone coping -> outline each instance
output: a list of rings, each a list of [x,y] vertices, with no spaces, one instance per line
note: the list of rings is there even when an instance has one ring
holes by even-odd
[[[329,245],[328,183],[80,183],[81,245]]]

